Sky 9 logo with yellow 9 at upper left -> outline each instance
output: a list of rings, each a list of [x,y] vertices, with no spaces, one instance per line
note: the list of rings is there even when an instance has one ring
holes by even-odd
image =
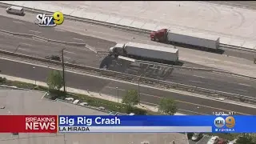
[[[64,14],[60,11],[54,12],[52,15],[38,14],[34,23],[43,27],[54,27],[64,22]]]

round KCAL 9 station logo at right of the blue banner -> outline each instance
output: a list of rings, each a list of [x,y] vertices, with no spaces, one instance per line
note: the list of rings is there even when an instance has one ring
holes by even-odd
[[[218,117],[214,119],[215,131],[219,132],[234,132],[235,118],[228,116],[226,118]]]

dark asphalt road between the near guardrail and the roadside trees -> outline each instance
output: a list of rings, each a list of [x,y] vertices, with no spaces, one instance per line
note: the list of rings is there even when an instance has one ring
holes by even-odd
[[[46,82],[46,76],[49,74],[50,70],[49,68],[44,68],[41,66],[34,66],[35,68],[33,69],[33,65],[11,62],[8,60],[0,60],[0,67],[2,70],[1,74],[19,78],[29,78],[41,82]],[[118,86],[118,89],[120,89],[120,96],[122,95],[122,90],[138,88],[138,86],[131,84],[114,82],[102,78],[93,78],[90,76],[73,74],[70,72],[66,72],[66,86],[113,95],[117,94],[115,87]],[[159,98],[174,98],[178,102],[179,109],[190,111],[194,110],[202,114],[212,114],[214,111],[236,111],[242,114],[256,114],[256,110],[254,108],[238,106],[225,102],[217,102],[210,99],[197,98],[187,94],[177,94],[164,90],[151,89],[144,86],[140,87],[140,93],[142,101],[156,104],[158,103]]]

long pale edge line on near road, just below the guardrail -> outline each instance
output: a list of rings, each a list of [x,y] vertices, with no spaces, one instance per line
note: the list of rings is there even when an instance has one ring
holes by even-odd
[[[20,60],[10,59],[10,58],[0,58],[0,59],[5,59],[5,60],[11,61],[11,62],[19,62],[19,63],[27,64],[27,65],[30,65],[30,66],[40,66],[40,67],[44,67],[46,69],[62,70],[62,68],[58,68],[57,66],[46,66],[46,65],[42,65],[42,64],[40,65],[40,64],[37,64],[37,63],[33,63],[33,62],[32,63],[31,62],[22,62]],[[101,79],[106,79],[106,80],[109,80],[109,81],[122,82],[122,83],[130,84],[130,85],[138,86],[138,83],[126,82],[126,81],[117,80],[117,79],[114,79],[114,78],[102,77],[102,76],[98,76],[98,75],[94,75],[94,74],[86,74],[86,73],[84,73],[82,71],[79,71],[79,70],[77,70],[77,71],[66,70],[66,72],[70,72],[70,73],[74,73],[74,74],[87,75],[87,76],[94,77],[94,78],[101,78]],[[171,89],[164,90],[164,89],[161,89],[161,88],[158,88],[158,87],[146,86],[146,85],[143,85],[143,84],[140,85],[140,86],[143,86],[143,87],[146,87],[146,88],[150,88],[150,89],[154,89],[154,90],[162,90],[162,91],[167,91],[167,92],[172,92],[172,93],[177,93],[177,94],[185,94],[185,95],[191,96],[191,97],[210,99],[210,100],[215,101],[215,102],[222,102],[222,101],[216,100],[214,98],[206,97],[206,95],[194,94],[194,93],[190,93],[190,92],[186,92],[186,91],[182,91],[182,90],[171,90]],[[250,108],[256,109],[256,106],[250,105],[250,104],[247,104],[247,103],[244,104],[242,102],[229,102],[229,101],[227,101],[225,103],[230,103],[230,104],[237,105],[237,106],[246,106],[246,107],[250,107]]]

